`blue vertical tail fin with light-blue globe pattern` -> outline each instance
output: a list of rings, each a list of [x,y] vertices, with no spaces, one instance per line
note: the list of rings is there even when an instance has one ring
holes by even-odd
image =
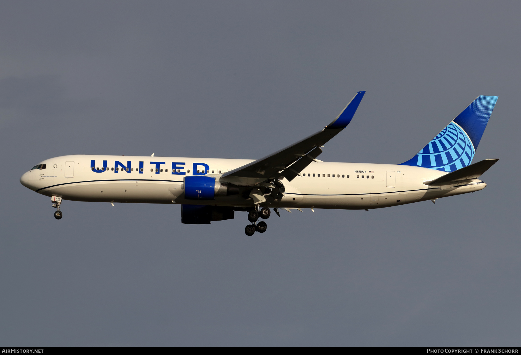
[[[441,171],[469,166],[497,100],[498,96],[478,96],[418,154],[400,165]]]

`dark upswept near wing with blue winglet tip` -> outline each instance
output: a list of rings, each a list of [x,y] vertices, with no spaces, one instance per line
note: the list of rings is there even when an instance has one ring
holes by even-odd
[[[323,130],[264,158],[229,171],[223,174],[220,180],[243,186],[274,179],[293,180],[309,163],[316,161],[318,155],[322,153],[320,147],[351,122],[364,94],[365,91],[356,93],[337,118]]]

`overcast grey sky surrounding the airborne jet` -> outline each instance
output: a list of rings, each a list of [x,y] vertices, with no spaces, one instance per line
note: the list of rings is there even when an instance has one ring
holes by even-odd
[[[0,343],[519,346],[519,2],[0,3]],[[326,161],[410,159],[498,95],[475,194],[366,211],[65,201],[19,183],[68,154],[257,159],[357,91]]]

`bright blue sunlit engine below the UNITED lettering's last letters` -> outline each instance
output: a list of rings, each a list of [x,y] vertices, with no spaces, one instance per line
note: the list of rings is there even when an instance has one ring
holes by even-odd
[[[219,182],[210,176],[192,175],[184,178],[184,198],[187,200],[213,200],[215,196],[239,194],[239,186]]]

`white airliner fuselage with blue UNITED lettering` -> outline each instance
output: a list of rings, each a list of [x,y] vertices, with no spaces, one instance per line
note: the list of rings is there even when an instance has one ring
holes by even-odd
[[[103,161],[107,161],[106,169]],[[251,207],[253,200],[243,195],[184,199],[183,178],[199,170],[199,174],[218,180],[223,173],[252,161],[69,155],[42,161],[45,169],[24,173],[20,182],[42,195],[66,200]],[[266,201],[261,206],[371,209],[465,194],[486,186],[478,179],[465,184],[428,186],[425,181],[446,172],[393,164],[312,162],[301,174],[291,182],[281,181],[286,189],[280,201]]]

